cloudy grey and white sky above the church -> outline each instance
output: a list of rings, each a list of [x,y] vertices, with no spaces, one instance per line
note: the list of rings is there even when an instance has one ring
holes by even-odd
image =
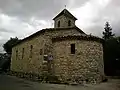
[[[10,37],[23,39],[41,29],[53,28],[52,20],[68,9],[76,26],[87,34],[102,37],[108,21],[120,36],[120,0],[0,0],[0,53]]]

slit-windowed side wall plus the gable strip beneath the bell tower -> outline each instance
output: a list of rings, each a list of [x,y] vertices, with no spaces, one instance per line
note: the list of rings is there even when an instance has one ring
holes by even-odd
[[[75,29],[66,30],[46,30],[44,33],[39,33],[33,38],[26,39],[20,44],[12,48],[11,70],[16,72],[27,72],[41,74],[47,70],[47,63],[44,61],[44,55],[52,54],[52,41],[51,38],[55,36],[65,35],[80,35]],[[30,47],[32,49],[32,57],[30,57]],[[24,56],[22,58],[24,48]],[[40,50],[42,49],[42,55]],[[18,56],[16,57],[16,50]]]

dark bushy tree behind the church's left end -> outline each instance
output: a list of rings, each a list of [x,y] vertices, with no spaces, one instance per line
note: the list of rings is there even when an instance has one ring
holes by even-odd
[[[4,50],[8,53],[11,54],[12,53],[12,47],[13,45],[15,45],[16,43],[18,43],[20,40],[15,37],[15,38],[10,38],[4,45],[3,48]]]

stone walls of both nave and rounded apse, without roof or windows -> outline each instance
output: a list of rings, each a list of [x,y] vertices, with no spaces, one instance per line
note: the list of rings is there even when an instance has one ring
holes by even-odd
[[[61,81],[97,81],[100,82],[103,72],[102,44],[95,41],[66,40],[52,42],[56,36],[81,35],[75,29],[49,30],[28,38],[12,49],[11,71],[41,75],[48,73],[49,67],[53,75]],[[70,44],[76,44],[76,53],[70,54]],[[30,47],[32,57],[30,57]],[[24,56],[22,58],[24,48]],[[42,54],[40,55],[42,49]],[[16,57],[16,50],[18,56]],[[51,62],[44,61],[44,55],[53,55]],[[50,66],[49,66],[50,64]],[[96,80],[98,79],[98,80]]]

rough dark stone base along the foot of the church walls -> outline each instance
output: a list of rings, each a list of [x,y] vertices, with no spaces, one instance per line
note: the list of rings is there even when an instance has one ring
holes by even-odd
[[[97,81],[92,78],[91,80],[90,79],[83,80],[83,78],[77,78],[77,79],[74,79],[74,81],[72,81],[71,79],[67,79],[66,81],[63,81],[62,79],[59,80],[60,78],[59,76],[38,75],[38,74],[33,74],[33,73],[24,73],[24,72],[15,72],[15,71],[9,71],[8,75],[16,76],[18,78],[24,78],[24,79],[31,80],[31,81],[38,81],[41,83],[68,84],[68,85],[87,84],[87,83],[96,84],[97,83]],[[101,77],[101,80],[104,81],[105,78]]]

